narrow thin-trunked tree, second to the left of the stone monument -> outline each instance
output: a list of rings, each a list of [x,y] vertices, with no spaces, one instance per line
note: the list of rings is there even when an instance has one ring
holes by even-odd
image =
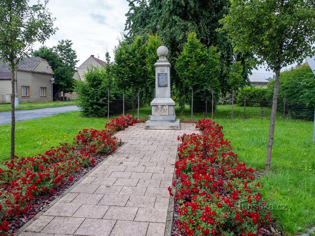
[[[146,47],[140,36],[136,37],[130,45],[131,64],[130,64],[130,81],[132,87],[138,92],[138,119],[139,119],[139,91],[146,85]]]

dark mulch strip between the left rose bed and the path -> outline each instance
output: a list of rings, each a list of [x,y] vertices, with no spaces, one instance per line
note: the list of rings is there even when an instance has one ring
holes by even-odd
[[[119,147],[119,146],[118,146]],[[117,147],[117,148],[118,148]],[[84,167],[79,172],[76,172],[72,175],[73,181],[67,181],[63,183],[61,186],[56,188],[53,193],[47,194],[45,196],[41,196],[38,198],[33,198],[31,201],[31,209],[25,213],[24,216],[15,216],[11,221],[9,221],[9,230],[12,229],[12,232],[16,232],[19,228],[21,228],[26,222],[28,222],[31,218],[33,218],[38,212],[42,211],[49,203],[51,203],[54,199],[60,196],[64,191],[70,188],[74,183],[76,183],[79,179],[81,179],[86,173],[92,170],[97,164],[103,161],[110,153],[105,155],[95,155],[94,160],[95,163],[92,165]]]

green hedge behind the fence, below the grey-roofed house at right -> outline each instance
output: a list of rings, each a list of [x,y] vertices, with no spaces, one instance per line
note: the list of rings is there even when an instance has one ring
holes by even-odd
[[[258,107],[266,106],[266,88],[245,87],[238,90],[236,104],[244,105],[244,97],[246,96],[246,106]],[[271,99],[272,100],[272,99]]]

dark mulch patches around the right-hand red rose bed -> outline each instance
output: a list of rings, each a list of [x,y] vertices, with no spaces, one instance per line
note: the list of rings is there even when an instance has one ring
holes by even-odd
[[[182,121],[180,121],[182,122]],[[190,123],[190,122],[189,122]],[[204,153],[204,159],[208,156],[208,153],[205,152]],[[213,166],[213,169],[219,169],[219,166],[217,164],[214,164]],[[263,171],[259,171],[259,170],[255,170],[254,171],[254,174],[255,174],[255,177],[256,178],[261,178],[262,175],[264,174]],[[215,176],[215,177],[219,177],[219,176]],[[220,176],[223,180],[224,180],[224,177]],[[180,179],[176,179],[176,183],[179,183],[181,182]],[[177,191],[176,191],[177,192]],[[220,194],[220,193],[219,193]],[[190,199],[186,199],[186,200],[189,200]],[[175,198],[175,202],[174,202],[174,217],[173,217],[173,224],[172,224],[172,231],[171,231],[171,236],[184,236],[185,233],[182,233],[180,230],[179,230],[179,223],[177,223],[177,220],[178,220],[178,208],[179,208],[179,202],[178,200]],[[272,235],[278,235],[278,236],[283,236],[283,232],[282,231],[278,231],[276,230],[277,228],[277,224],[275,222],[271,222],[270,224],[266,225],[264,228],[261,228],[261,235],[265,235],[265,236],[272,236]]]

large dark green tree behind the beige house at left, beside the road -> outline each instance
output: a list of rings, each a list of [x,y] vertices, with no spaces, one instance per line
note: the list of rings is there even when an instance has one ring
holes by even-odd
[[[52,48],[43,46],[38,50],[32,51],[34,57],[41,57],[47,60],[54,70],[56,76],[53,84],[54,93],[63,91],[73,92],[73,75],[78,62],[77,53],[72,49],[71,40],[60,40],[59,44]]]

